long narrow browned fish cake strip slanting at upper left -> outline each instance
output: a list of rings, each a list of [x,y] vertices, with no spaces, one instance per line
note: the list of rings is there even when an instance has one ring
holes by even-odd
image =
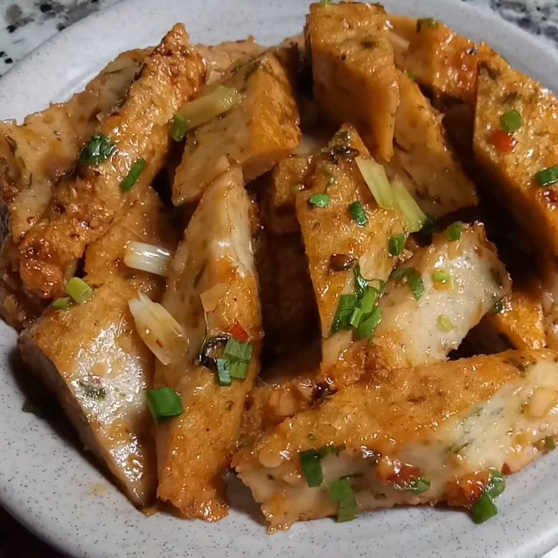
[[[119,110],[91,138],[77,175],[56,188],[20,245],[20,274],[30,292],[47,299],[61,294],[86,246],[142,197],[163,167],[169,121],[204,75],[201,56],[177,24],[146,58]]]

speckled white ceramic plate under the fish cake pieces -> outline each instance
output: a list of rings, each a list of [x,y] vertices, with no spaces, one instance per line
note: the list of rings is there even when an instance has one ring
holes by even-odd
[[[487,40],[515,66],[558,91],[558,56],[487,11],[458,0],[389,0],[400,13],[432,16]],[[253,33],[273,44],[303,27],[306,0],[128,0],[73,25],[0,82],[0,118],[22,119],[67,98],[119,52],[158,42],[174,22],[195,41]],[[299,523],[266,535],[254,506],[217,523],[145,518],[50,423],[21,412],[14,375],[16,335],[0,324],[0,502],[68,555],[86,557],[256,556],[539,557],[558,543],[558,452],[508,480],[499,515],[475,526],[465,513],[399,508],[353,522]],[[11,356],[10,356],[11,355]],[[25,373],[23,371],[23,373]],[[100,490],[100,485],[107,490]],[[241,491],[236,485],[235,491]],[[103,494],[99,494],[103,492]]]

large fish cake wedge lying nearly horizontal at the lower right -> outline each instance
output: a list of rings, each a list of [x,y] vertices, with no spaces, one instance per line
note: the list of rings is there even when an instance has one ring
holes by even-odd
[[[288,418],[234,466],[269,531],[400,504],[446,502],[475,518],[494,478],[503,489],[502,471],[554,443],[557,405],[548,349],[400,368]]]

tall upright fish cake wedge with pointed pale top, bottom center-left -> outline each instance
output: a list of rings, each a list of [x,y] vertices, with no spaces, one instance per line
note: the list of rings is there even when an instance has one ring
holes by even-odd
[[[180,359],[156,367],[156,388],[174,389],[184,409],[157,426],[157,493],[187,518],[215,521],[227,515],[222,476],[244,398],[259,372],[263,334],[249,206],[241,169],[233,164],[199,202],[163,296],[189,348]],[[250,345],[251,356],[234,372],[238,362],[227,354],[239,342]],[[221,366],[229,369],[228,382]]]

